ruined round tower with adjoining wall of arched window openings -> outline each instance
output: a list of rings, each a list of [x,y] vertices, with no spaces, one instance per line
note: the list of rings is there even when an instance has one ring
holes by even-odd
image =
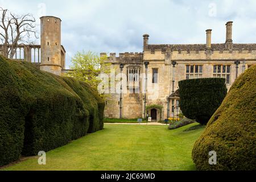
[[[61,19],[43,16],[40,18],[40,24],[41,44],[18,46],[13,59],[32,62],[42,71],[61,75],[65,72],[66,53],[61,46]]]

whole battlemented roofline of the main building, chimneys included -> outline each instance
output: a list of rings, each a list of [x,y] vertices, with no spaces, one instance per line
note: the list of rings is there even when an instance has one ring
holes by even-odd
[[[232,40],[233,22],[226,23],[225,43],[212,44],[212,29],[206,30],[204,44],[148,44],[149,35],[143,35],[143,53],[110,53],[108,63],[143,64],[143,61],[163,61],[170,65],[172,60],[237,60],[256,59],[255,44],[234,44]],[[102,53],[101,55],[107,55]]]

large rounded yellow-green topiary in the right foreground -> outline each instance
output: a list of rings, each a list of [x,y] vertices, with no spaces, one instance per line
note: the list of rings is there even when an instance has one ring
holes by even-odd
[[[256,65],[237,78],[193,147],[199,170],[256,169]],[[217,164],[209,165],[209,152]]]

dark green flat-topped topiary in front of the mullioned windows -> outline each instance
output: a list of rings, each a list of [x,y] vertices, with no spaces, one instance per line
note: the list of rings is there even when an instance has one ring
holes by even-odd
[[[206,125],[221,105],[227,89],[224,78],[201,78],[179,82],[180,109],[185,117]]]

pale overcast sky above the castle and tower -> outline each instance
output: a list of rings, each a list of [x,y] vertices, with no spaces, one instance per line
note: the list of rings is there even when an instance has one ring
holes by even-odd
[[[67,65],[77,51],[141,52],[143,34],[150,44],[225,42],[225,23],[232,20],[234,43],[256,43],[256,1],[195,0],[0,0],[16,14],[31,13],[62,20],[61,42]],[[39,42],[38,42],[39,43]]]

